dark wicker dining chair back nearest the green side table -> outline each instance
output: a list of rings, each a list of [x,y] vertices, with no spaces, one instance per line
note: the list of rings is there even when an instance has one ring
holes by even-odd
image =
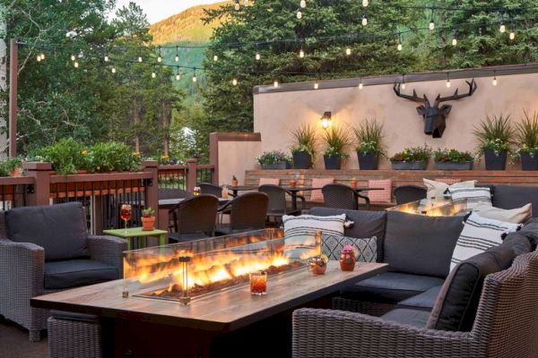
[[[218,207],[216,196],[200,194],[169,209],[173,223],[169,228],[169,240],[185,242],[214,236]]]

